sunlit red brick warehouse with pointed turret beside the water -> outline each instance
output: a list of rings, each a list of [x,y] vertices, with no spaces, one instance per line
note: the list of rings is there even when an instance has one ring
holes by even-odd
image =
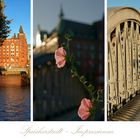
[[[5,69],[25,68],[28,62],[28,45],[22,26],[19,33],[6,39],[0,47],[0,67]]]

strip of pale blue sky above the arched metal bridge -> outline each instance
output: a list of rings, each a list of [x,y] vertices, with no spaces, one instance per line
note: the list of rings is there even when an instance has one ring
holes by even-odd
[[[140,11],[140,0],[107,0],[107,6],[128,6]]]

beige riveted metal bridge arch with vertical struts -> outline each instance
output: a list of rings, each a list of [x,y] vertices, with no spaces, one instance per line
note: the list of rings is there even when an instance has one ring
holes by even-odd
[[[134,106],[140,102],[140,13],[130,7],[109,8],[107,22],[108,120],[135,120],[136,106],[140,113],[139,105]],[[127,114],[130,108],[133,116]]]

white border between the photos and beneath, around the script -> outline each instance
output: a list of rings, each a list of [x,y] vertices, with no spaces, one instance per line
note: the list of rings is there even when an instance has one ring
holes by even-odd
[[[132,139],[139,136],[140,122],[107,122],[107,0],[104,0],[104,115],[105,121],[103,122],[33,122],[33,0],[30,0],[30,14],[31,14],[31,121],[30,122],[0,122],[0,134],[1,139],[11,139],[16,138],[19,140],[46,140],[46,139],[105,139],[108,140],[118,140],[121,138]],[[91,130],[93,132],[99,133],[87,133],[81,136],[80,133],[75,135],[71,134],[76,128],[82,126],[82,131]],[[32,128],[38,130],[38,133],[29,134],[24,136],[23,132],[26,128]],[[59,129],[63,128],[64,133],[62,134],[41,134],[41,128]],[[112,131],[112,134],[102,133],[102,131]]]

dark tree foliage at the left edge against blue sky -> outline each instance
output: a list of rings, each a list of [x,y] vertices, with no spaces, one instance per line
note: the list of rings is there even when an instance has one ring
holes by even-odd
[[[9,24],[11,20],[7,20],[7,17],[4,15],[4,8],[4,4],[0,0],[0,46],[10,33]]]

